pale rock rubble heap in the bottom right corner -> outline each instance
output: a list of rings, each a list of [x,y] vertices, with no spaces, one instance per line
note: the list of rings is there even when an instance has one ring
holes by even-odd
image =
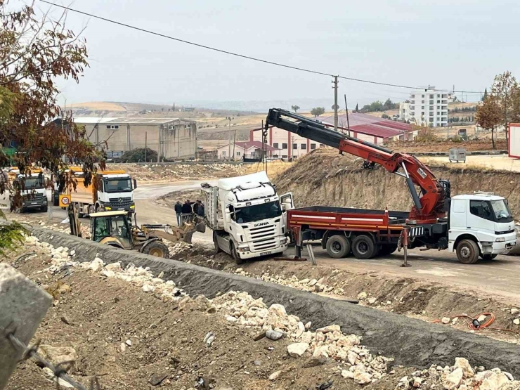
[[[517,390],[520,381],[514,380],[509,372],[493,368],[472,367],[465,358],[455,358],[452,366],[432,365],[429,370],[415,371],[402,377],[396,390],[433,389],[446,390]]]

